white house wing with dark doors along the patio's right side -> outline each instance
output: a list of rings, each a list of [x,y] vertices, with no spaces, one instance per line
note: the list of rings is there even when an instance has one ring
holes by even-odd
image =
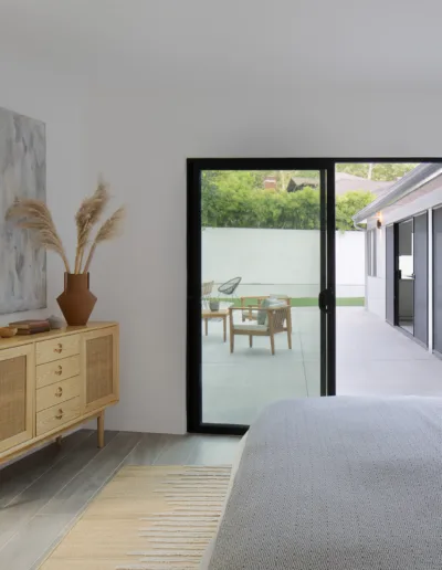
[[[421,163],[354,217],[366,308],[442,356],[442,162]]]

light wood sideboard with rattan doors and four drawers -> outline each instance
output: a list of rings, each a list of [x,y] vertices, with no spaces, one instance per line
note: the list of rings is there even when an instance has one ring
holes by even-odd
[[[118,325],[0,339],[0,465],[97,419],[119,400]]]

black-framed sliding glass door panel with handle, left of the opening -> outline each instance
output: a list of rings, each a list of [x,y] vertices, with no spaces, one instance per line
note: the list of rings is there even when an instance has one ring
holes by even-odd
[[[335,393],[334,168],[188,161],[188,429]]]

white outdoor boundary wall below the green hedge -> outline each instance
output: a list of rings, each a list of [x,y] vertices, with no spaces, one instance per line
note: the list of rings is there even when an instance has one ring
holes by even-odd
[[[362,232],[336,232],[338,297],[365,296]],[[234,276],[236,294],[282,293],[315,297],[320,287],[318,230],[207,228],[202,232],[202,281],[221,284]]]

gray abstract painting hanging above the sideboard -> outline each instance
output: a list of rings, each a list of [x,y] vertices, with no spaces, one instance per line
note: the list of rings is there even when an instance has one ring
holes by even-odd
[[[14,199],[46,200],[44,123],[0,108],[0,315],[46,307],[46,254],[4,221]]]

